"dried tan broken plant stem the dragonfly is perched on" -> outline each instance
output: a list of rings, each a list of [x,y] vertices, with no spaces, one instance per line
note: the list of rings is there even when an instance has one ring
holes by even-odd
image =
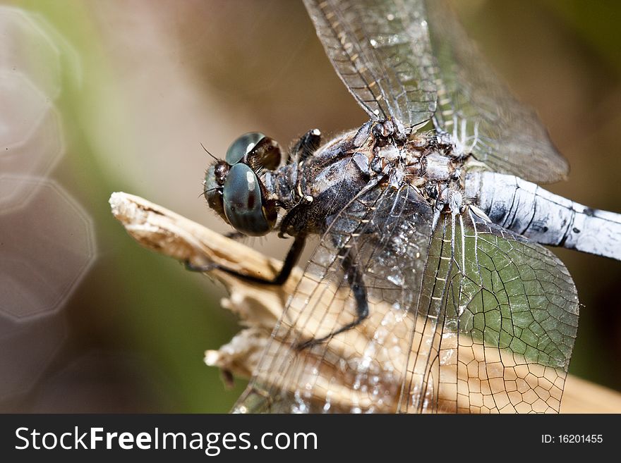
[[[263,278],[275,276],[280,266],[279,261],[146,199],[116,192],[110,197],[110,205],[112,214],[140,245],[179,261],[189,261],[196,266],[214,263]],[[287,283],[280,287],[248,283],[217,269],[209,274],[229,292],[229,297],[222,301],[223,307],[237,314],[246,328],[219,350],[207,351],[205,362],[248,378],[284,304],[301,278],[301,270],[294,269]],[[346,390],[339,393],[344,401],[346,394]],[[621,393],[568,376],[561,412],[620,413]]]

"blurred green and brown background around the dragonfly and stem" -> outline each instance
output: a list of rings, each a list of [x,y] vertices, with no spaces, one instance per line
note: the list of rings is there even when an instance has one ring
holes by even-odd
[[[621,4],[453,3],[569,159],[550,190],[621,212]],[[203,363],[237,329],[224,292],[135,244],[107,199],[226,231],[199,197],[201,142],[222,156],[243,132],[288,146],[365,119],[297,1],[4,1],[0,411],[226,412],[243,381]],[[621,390],[621,264],[555,252],[583,304],[570,371]]]

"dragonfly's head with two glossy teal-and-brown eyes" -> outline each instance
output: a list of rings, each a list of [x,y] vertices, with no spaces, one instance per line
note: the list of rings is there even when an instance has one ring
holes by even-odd
[[[224,160],[205,173],[205,199],[224,221],[248,236],[262,236],[273,230],[277,204],[267,199],[260,174],[280,164],[280,147],[260,132],[250,132],[235,140]]]

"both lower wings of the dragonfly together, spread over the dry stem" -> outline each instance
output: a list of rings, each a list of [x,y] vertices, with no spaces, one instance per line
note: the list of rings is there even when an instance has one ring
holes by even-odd
[[[469,212],[432,233],[411,191],[334,220],[237,411],[558,412],[578,319],[565,266]],[[370,316],[298,350],[355,318],[343,249],[366,271]]]

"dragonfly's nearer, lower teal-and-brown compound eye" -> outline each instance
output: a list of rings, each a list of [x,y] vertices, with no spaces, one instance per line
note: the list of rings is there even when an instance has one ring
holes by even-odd
[[[222,196],[224,214],[237,231],[249,236],[262,236],[271,230],[271,223],[263,209],[259,179],[246,164],[236,163],[231,167],[227,180],[224,180]]]

